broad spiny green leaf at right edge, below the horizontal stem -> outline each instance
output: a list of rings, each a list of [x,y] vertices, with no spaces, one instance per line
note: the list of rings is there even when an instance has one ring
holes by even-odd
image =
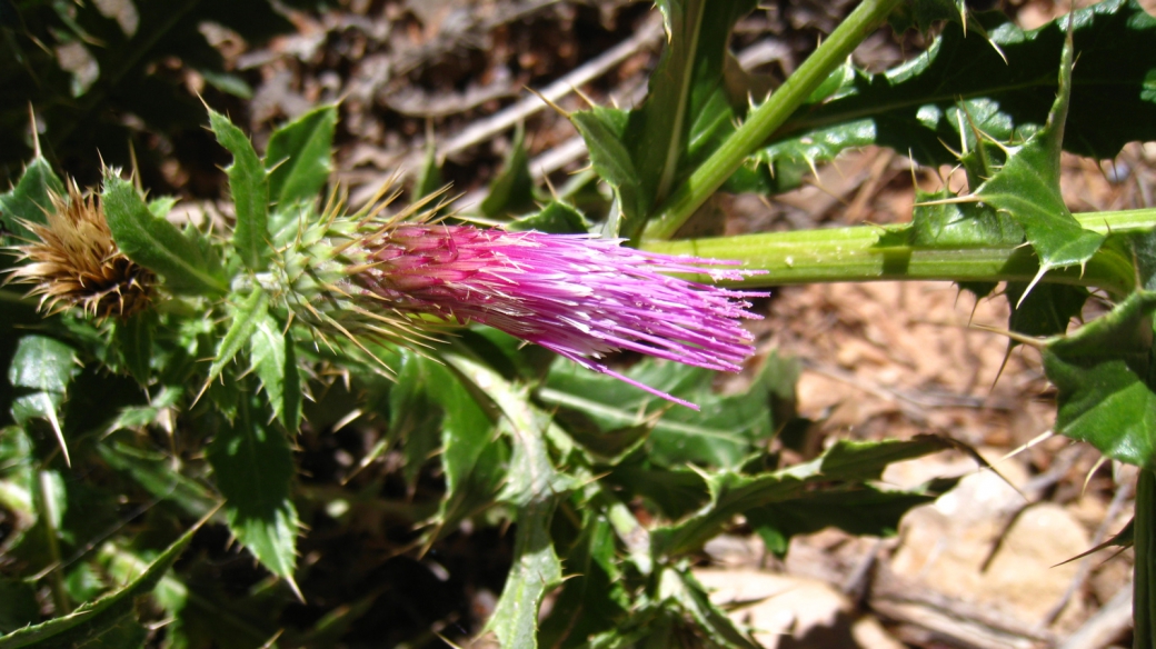
[[[1044,372],[1059,390],[1055,431],[1148,470],[1156,467],[1154,312],[1156,292],[1136,291],[1044,350]]]

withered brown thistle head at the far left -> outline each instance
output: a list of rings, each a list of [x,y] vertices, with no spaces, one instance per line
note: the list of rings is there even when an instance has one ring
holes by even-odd
[[[91,193],[68,182],[68,195],[50,195],[46,223],[23,222],[38,240],[14,246],[24,262],[8,281],[34,284],[40,311],[53,314],[72,306],[104,320],[128,318],[148,306],[156,277],[125,256],[112,239],[104,209]]]

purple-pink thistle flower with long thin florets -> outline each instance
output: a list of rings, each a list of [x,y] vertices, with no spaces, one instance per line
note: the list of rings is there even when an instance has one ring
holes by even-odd
[[[741,279],[736,262],[673,256],[588,234],[506,232],[469,225],[401,224],[363,243],[356,282],[400,313],[481,322],[553,350],[651,394],[695,404],[614,372],[596,359],[631,350],[736,372],[755,349],[740,319],[746,298],[672,277],[706,273]]]

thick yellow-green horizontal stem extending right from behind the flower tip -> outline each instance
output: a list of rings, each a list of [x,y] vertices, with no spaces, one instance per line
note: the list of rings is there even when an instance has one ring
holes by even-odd
[[[1124,234],[1156,227],[1156,209],[1076,215],[1081,224],[1102,233]],[[795,232],[766,232],[712,239],[644,241],[643,248],[665,254],[735,260],[763,270],[733,283],[747,288],[812,282],[941,279],[950,282],[1030,282],[1039,263],[1029,246],[916,247],[910,224]],[[1105,246],[1085,267],[1050,271],[1046,282],[1098,286],[1126,294],[1135,286],[1129,255]]]

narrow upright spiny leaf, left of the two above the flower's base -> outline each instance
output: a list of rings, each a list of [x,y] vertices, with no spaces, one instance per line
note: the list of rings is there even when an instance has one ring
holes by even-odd
[[[251,270],[265,270],[268,245],[269,178],[249,137],[229,118],[209,111],[209,126],[222,147],[232,154],[229,192],[237,209],[232,245]]]

